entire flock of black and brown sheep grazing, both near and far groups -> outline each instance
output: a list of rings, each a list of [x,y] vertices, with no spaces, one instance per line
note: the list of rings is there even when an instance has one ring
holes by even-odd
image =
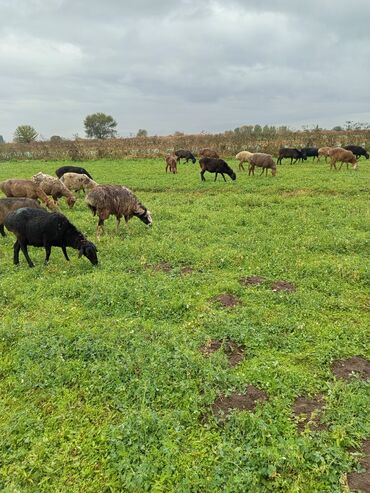
[[[199,152],[199,164],[201,167],[200,175],[202,181],[205,180],[206,171],[215,173],[215,181],[218,174],[221,174],[224,181],[225,175],[232,180],[236,179],[236,174],[230,166],[220,159],[216,151],[212,149],[202,149]],[[343,163],[352,165],[357,169],[357,159],[360,156],[369,158],[367,151],[360,146],[341,147],[322,147],[317,148],[282,148],[279,151],[277,163],[270,154],[251,153],[241,151],[236,155],[239,161],[239,170],[244,170],[243,163],[248,163],[249,175],[254,175],[255,168],[262,168],[263,174],[271,170],[272,176],[276,175],[276,165],[283,159],[290,158],[290,162],[305,160],[307,157],[325,158],[325,162],[330,158],[330,169],[337,169],[336,164]],[[174,154],[166,156],[166,172],[177,172],[177,164],[185,159],[185,162],[196,162],[194,154],[188,150],[180,149]],[[340,169],[339,168],[339,169]],[[28,265],[33,267],[33,262],[28,254],[28,245],[43,247],[46,257],[45,263],[49,261],[51,247],[60,247],[66,260],[69,260],[67,247],[78,250],[79,257],[87,257],[93,265],[98,263],[97,248],[91,241],[70,223],[66,216],[55,212],[58,207],[58,200],[65,198],[68,206],[72,208],[76,202],[73,192],[86,193],[85,202],[93,215],[98,216],[96,235],[99,238],[104,230],[104,221],[110,215],[114,215],[117,220],[116,230],[120,221],[124,217],[126,223],[133,216],[138,217],[146,225],[151,226],[152,217],[150,211],[138,200],[134,193],[122,185],[99,185],[92,176],[81,167],[63,166],[56,170],[57,177],[46,175],[39,172],[32,176],[31,180],[9,179],[0,182],[0,190],[7,198],[0,199],[0,234],[5,236],[5,229],[14,233],[16,241],[13,246],[14,264],[19,264],[19,252],[22,250]],[[43,202],[48,212],[39,203]]]

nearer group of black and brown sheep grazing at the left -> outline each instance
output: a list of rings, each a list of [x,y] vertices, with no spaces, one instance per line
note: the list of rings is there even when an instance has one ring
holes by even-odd
[[[150,211],[137,199],[134,193],[121,185],[98,185],[84,169],[75,166],[63,166],[56,171],[58,178],[37,173],[31,180],[10,179],[0,182],[0,190],[7,198],[0,199],[0,234],[5,229],[14,233],[14,264],[19,264],[19,252],[22,250],[30,267],[34,264],[28,254],[28,246],[45,249],[45,263],[49,261],[51,247],[62,249],[69,260],[67,247],[78,250],[79,257],[85,256],[93,265],[97,265],[97,248],[76,229],[66,216],[55,212],[58,199],[65,197],[69,207],[73,207],[76,197],[73,192],[88,191],[85,201],[94,215],[97,215],[97,237],[103,232],[104,221],[110,215],[116,216],[117,228],[121,218],[126,223],[133,216],[147,225],[152,224]],[[53,212],[40,206],[40,200]]]

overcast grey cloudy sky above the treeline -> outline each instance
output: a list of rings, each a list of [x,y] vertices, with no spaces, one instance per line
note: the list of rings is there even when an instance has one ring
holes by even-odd
[[[370,122],[369,0],[0,0],[0,135]]]

